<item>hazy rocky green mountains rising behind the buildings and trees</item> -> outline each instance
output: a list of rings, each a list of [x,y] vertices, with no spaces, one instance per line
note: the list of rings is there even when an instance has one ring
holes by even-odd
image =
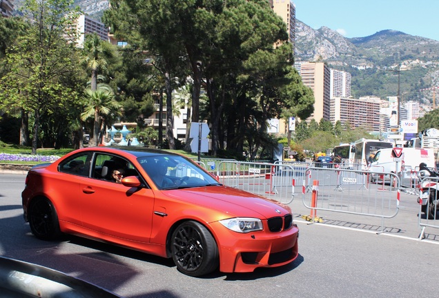
[[[24,1],[15,0],[14,6],[20,9]],[[100,19],[108,1],[75,0],[75,5]],[[396,30],[349,39],[330,28],[315,30],[296,20],[295,61],[323,61],[331,68],[350,72],[355,98],[396,96],[399,77],[403,101],[428,104],[432,92],[419,90],[439,86],[439,41]]]

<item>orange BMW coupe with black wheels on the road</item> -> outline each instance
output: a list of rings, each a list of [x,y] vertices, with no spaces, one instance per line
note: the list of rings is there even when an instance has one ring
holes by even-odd
[[[75,234],[172,257],[191,276],[283,266],[298,254],[289,206],[162,150],[76,150],[32,168],[22,201],[39,239]]]

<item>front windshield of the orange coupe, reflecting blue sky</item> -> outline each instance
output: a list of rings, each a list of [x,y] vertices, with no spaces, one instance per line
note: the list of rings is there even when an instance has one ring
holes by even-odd
[[[139,157],[137,161],[161,190],[221,185],[211,175],[184,157],[161,155]]]

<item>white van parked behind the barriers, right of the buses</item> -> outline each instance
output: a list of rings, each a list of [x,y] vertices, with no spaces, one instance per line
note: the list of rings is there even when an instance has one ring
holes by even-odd
[[[393,148],[380,149],[375,153],[369,165],[371,179],[376,180],[379,173],[395,173],[407,176],[419,170],[420,163],[426,163],[429,168],[436,168],[434,152],[431,148],[399,148],[402,149],[400,158],[393,155]],[[396,168],[398,163],[398,169]],[[387,179],[389,179],[387,177]]]

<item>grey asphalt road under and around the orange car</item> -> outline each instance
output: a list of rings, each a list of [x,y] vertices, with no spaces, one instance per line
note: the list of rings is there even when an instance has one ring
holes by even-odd
[[[0,255],[53,268],[121,297],[437,297],[439,230],[419,241],[413,196],[385,222],[336,213],[309,224],[300,198],[291,207],[300,228],[293,264],[248,274],[179,273],[173,262],[141,252],[68,236],[41,241],[23,221],[24,175],[0,174]],[[405,203],[407,201],[407,203]],[[1,293],[0,293],[1,297]]]

